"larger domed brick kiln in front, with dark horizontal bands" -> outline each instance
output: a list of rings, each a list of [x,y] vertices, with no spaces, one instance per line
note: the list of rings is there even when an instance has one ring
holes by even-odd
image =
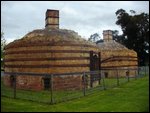
[[[11,72],[59,74],[99,69],[99,48],[74,31],[59,29],[58,10],[47,10],[45,21],[45,29],[34,30],[5,47],[5,85],[12,85]],[[16,81],[17,88],[42,90],[50,79],[28,75],[17,76]],[[73,89],[82,87],[81,76],[57,76],[53,81],[55,89],[67,88],[65,83]]]

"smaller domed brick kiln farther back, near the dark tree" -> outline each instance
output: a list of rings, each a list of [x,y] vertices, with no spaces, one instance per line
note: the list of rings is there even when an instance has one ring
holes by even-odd
[[[120,76],[126,76],[128,68],[138,67],[137,53],[113,40],[111,30],[103,31],[103,39],[104,42],[97,44],[101,49],[101,67],[112,69],[104,72],[106,77],[116,76],[116,68],[126,69],[118,71]],[[130,70],[129,76],[135,76],[136,73],[136,70]]]

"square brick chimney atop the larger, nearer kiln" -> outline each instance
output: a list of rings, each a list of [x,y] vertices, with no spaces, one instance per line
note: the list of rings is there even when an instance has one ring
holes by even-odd
[[[47,9],[45,18],[46,29],[59,29],[59,10]]]

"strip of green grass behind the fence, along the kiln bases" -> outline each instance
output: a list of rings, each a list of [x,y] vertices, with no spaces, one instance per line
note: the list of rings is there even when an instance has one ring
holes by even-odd
[[[126,78],[119,78],[119,84],[127,83]],[[106,89],[116,87],[117,86],[117,79],[116,78],[105,78],[105,87]],[[86,89],[86,95],[89,95],[91,93],[99,92],[99,90],[103,90],[103,81],[101,80],[101,84],[94,88],[88,88]],[[3,79],[1,80],[1,95],[4,95],[6,97],[12,97],[13,98],[13,88],[6,87],[3,84]],[[83,89],[81,90],[67,90],[67,91],[53,91],[53,102],[58,103],[74,98],[83,97]],[[36,102],[44,102],[44,103],[50,103],[51,101],[51,92],[50,91],[31,91],[31,90],[16,90],[16,98],[19,99],[25,99],[25,100],[32,100]]]

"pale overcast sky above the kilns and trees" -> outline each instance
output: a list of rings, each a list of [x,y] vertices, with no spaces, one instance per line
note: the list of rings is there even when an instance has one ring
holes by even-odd
[[[60,12],[59,27],[78,32],[88,39],[91,34],[103,30],[118,30],[115,12],[124,9],[128,13],[149,13],[149,1],[1,1],[1,31],[7,42],[22,38],[28,32],[45,28],[45,12]]]

